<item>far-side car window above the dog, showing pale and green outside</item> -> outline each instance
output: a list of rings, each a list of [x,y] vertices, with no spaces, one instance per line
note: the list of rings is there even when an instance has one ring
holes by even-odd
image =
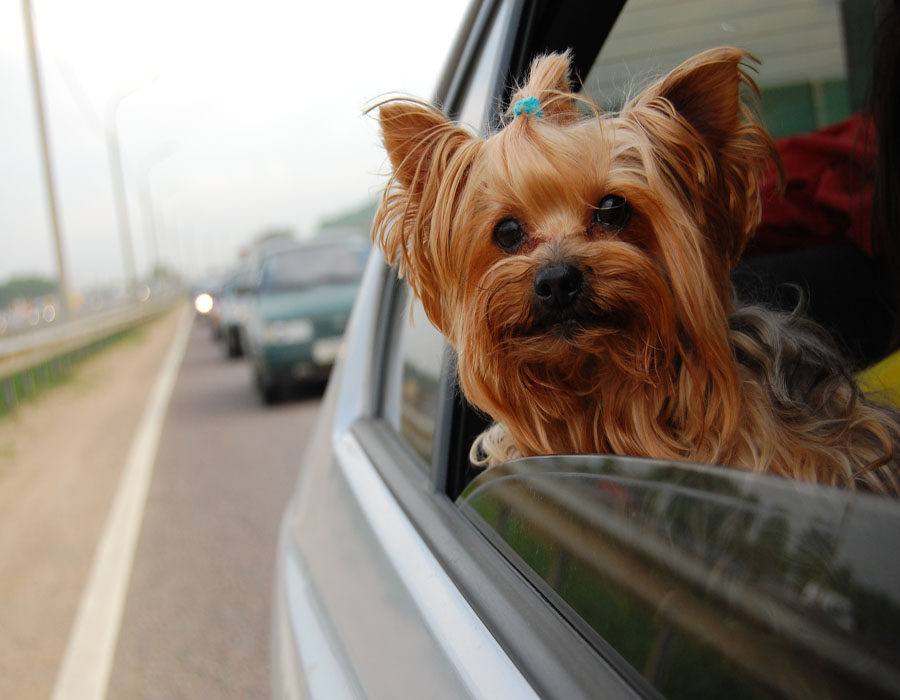
[[[754,78],[762,116],[775,137],[805,133],[848,117],[852,95],[868,75],[847,69],[844,5],[836,1],[750,0],[671,3],[630,0],[584,81],[604,109],[622,106],[682,61],[716,46],[737,46],[759,59]],[[866,64],[863,64],[866,65]]]

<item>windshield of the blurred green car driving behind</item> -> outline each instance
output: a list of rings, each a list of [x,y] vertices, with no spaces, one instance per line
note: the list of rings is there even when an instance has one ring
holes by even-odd
[[[265,259],[261,290],[286,290],[322,284],[357,282],[367,253],[361,248],[315,246],[281,251]]]

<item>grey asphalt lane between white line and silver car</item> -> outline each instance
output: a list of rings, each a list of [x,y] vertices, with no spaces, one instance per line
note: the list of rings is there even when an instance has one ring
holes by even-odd
[[[264,698],[279,519],[317,396],[260,403],[195,325],[166,416],[109,698]]]

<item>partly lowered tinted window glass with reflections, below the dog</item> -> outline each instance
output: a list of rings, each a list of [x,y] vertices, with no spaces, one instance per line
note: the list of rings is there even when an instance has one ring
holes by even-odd
[[[494,467],[460,505],[667,697],[900,688],[895,501],[594,456]]]

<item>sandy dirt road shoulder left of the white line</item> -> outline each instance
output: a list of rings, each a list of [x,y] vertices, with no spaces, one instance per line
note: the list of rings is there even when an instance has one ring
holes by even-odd
[[[97,540],[184,308],[0,421],[0,697],[53,689]]]

